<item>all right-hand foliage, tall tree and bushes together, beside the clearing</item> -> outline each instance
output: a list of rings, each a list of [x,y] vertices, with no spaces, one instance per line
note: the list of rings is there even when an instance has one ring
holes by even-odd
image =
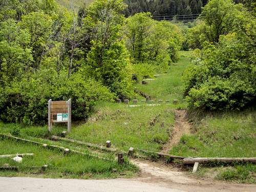
[[[254,16],[241,4],[211,0],[201,17],[204,23],[190,31],[198,33],[195,40],[202,48],[185,76],[190,107],[217,111],[250,106],[256,98]],[[195,41],[192,45],[198,46]]]

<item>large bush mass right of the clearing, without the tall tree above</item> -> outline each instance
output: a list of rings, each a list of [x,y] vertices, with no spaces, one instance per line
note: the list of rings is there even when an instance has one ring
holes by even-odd
[[[256,99],[256,66],[253,47],[237,34],[205,45],[202,57],[185,74],[191,109],[240,110]]]

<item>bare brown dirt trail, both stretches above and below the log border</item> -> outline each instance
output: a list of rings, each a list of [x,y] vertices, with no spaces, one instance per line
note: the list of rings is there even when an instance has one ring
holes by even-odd
[[[190,133],[191,125],[186,117],[186,110],[175,110],[175,126],[169,141],[163,146],[162,153],[178,144],[184,134]],[[149,160],[132,159],[140,168],[140,175],[134,180],[155,184],[166,188],[175,188],[182,191],[214,192],[214,191],[256,191],[256,185],[227,183],[212,179],[196,179],[189,173],[182,172],[173,164],[152,162]]]

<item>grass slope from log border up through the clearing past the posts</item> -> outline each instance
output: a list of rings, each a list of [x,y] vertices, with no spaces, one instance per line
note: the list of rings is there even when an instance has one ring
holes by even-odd
[[[146,106],[141,103],[140,99],[145,99],[141,96],[135,97],[139,99],[138,104],[142,104],[137,108],[129,108],[125,104],[100,103],[96,107],[98,112],[87,123],[74,127],[68,137],[101,144],[111,140],[116,147],[125,151],[129,147],[161,151],[174,126],[173,109],[186,108],[186,102],[182,100],[181,76],[189,64],[191,53],[185,54],[188,55],[171,66],[167,74],[147,85],[135,84],[136,89],[151,95],[152,99],[179,99],[178,104]],[[154,125],[151,125],[152,121],[156,121]]]

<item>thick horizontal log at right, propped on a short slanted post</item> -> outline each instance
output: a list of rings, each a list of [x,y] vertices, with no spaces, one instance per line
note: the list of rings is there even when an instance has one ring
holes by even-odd
[[[256,158],[219,158],[219,157],[198,157],[198,158],[184,158],[183,164],[194,164],[195,162],[198,163],[210,163],[210,162],[219,162],[219,163],[233,163],[233,162],[250,162],[250,163],[256,163]]]

